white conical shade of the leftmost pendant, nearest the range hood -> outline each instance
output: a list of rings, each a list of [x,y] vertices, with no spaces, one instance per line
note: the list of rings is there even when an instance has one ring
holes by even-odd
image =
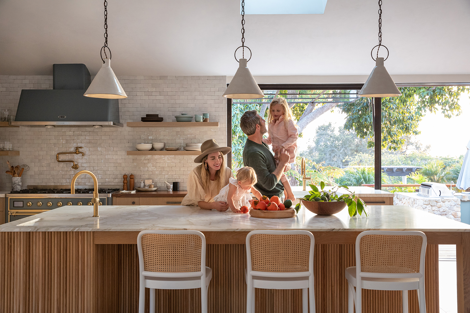
[[[104,99],[123,99],[127,95],[119,84],[118,78],[110,67],[110,59],[104,59],[104,64],[94,76],[93,82],[86,90],[84,96]]]

